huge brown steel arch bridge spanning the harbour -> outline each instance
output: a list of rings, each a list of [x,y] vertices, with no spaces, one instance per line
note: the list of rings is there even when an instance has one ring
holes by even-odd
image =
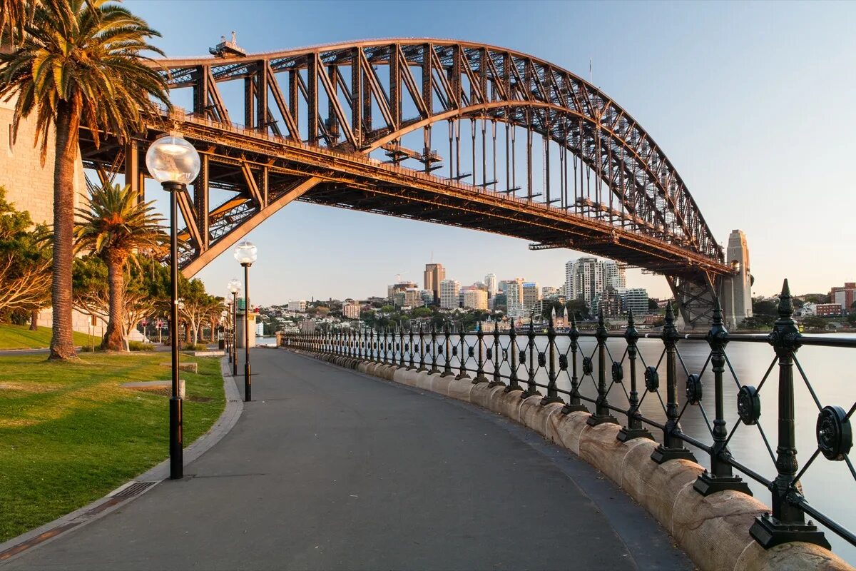
[[[706,322],[732,273],[651,136],[549,62],[472,42],[383,39],[158,65],[174,109],[125,146],[96,149],[83,131],[81,153],[102,180],[123,170],[141,189],[148,141],[178,131],[197,147],[199,178],[179,199],[187,275],[293,200],[662,273],[690,325]]]

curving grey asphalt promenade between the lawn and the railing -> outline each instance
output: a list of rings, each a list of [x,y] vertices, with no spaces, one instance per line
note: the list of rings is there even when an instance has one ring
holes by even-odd
[[[693,568],[519,425],[278,349],[254,350],[253,371],[256,400],[185,479],[0,568]]]

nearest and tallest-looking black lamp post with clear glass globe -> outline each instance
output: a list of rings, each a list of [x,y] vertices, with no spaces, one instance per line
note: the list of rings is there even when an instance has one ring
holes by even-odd
[[[181,434],[181,396],[178,390],[178,200],[175,193],[199,175],[199,153],[181,137],[165,136],[146,152],[149,174],[169,193],[169,341],[172,345],[172,396],[169,398],[169,478],[184,475]]]

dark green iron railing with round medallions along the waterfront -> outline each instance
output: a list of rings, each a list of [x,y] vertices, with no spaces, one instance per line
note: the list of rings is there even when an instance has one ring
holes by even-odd
[[[472,379],[473,384],[504,385],[506,392],[520,391],[523,398],[540,396],[542,405],[561,403],[564,414],[591,412],[589,425],[619,424],[620,418],[619,440],[651,438],[659,443],[651,461],[697,461],[696,453],[702,455],[700,461],[708,469],[693,486],[700,494],[724,490],[752,494],[748,483],[735,471],[757,483],[756,491],[758,485],[770,491],[771,513],[758,517],[749,530],[765,548],[788,541],[829,548],[823,531],[806,520],[806,514],[856,545],[853,530],[829,515],[829,510],[809,503],[800,484],[805,473],[823,462],[819,460],[821,456],[825,461],[846,466],[844,477],[856,480],[850,458],[851,417],[856,412],[856,399],[847,409],[824,406],[797,356],[801,347],[856,349],[856,338],[802,335],[792,318],[793,311],[786,280],[778,319],[768,335],[728,333],[717,302],[713,324],[706,334],[679,333],[669,306],[663,330],[657,333],[640,333],[631,313],[620,332],[607,330],[601,315],[594,330],[580,330],[573,320],[567,330],[556,330],[552,319],[545,330],[535,330],[531,322],[515,328],[512,321],[505,332],[499,331],[500,324],[493,324],[490,331],[479,327],[477,331],[464,332],[447,323],[442,329],[432,325],[409,330],[317,330],[282,336],[282,345],[418,372],[454,375],[457,379]],[[641,349],[640,340],[646,343]],[[660,348],[647,340],[655,340]],[[681,354],[684,343],[686,350],[695,351],[691,355],[694,361]],[[774,356],[757,384],[750,384],[741,379],[746,375],[745,367],[733,362],[729,352],[758,344],[769,345]],[[706,347],[703,353],[698,353],[699,347]],[[749,356],[755,359],[757,352]],[[797,402],[795,385],[804,385],[805,391],[800,394],[817,407],[813,422],[816,447],[802,467],[797,461],[797,443],[811,442],[811,434],[798,435],[796,429],[799,426],[805,431],[811,418],[800,418],[799,423],[794,418],[795,406],[805,403],[805,399]],[[736,400],[731,387],[737,390]],[[775,398],[777,403],[775,427],[766,423],[765,428],[759,421],[762,391],[765,395],[774,393],[770,400]],[[853,390],[847,390],[848,400],[852,394]],[[727,411],[726,403],[734,407]],[[697,417],[702,419],[697,419],[696,425],[704,427],[703,433],[691,435],[681,429],[681,420],[691,409],[696,409]],[[763,446],[752,452],[744,449],[744,456],[739,457],[732,453],[729,443],[736,442],[735,434],[746,437],[746,431],[757,431]],[[755,454],[758,449],[762,457],[769,455],[771,466],[759,467],[761,462]],[[767,475],[766,470],[770,470]],[[826,478],[823,473],[822,479]],[[844,497],[847,490],[851,494],[848,502],[852,502],[854,489],[853,481],[849,487],[841,487]]]

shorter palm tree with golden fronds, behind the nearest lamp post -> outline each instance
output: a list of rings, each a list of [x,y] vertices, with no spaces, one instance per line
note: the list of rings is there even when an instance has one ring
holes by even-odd
[[[89,207],[77,209],[80,222],[74,226],[78,249],[86,249],[104,260],[110,287],[110,312],[101,348],[125,348],[123,315],[125,271],[137,253],[162,247],[169,236],[163,231],[152,202],[140,202],[130,186],[105,185],[89,192]]]

